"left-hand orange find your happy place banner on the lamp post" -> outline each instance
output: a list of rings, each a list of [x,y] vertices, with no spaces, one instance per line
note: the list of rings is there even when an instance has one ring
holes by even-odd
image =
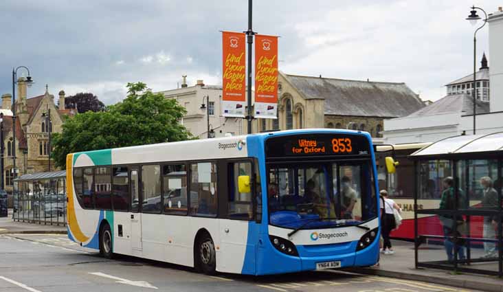
[[[242,32],[222,32],[222,115],[245,116],[246,41]]]

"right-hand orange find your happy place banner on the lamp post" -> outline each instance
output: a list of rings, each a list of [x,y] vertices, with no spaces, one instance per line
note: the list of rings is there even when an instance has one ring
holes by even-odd
[[[255,36],[255,117],[276,119],[278,36]]]

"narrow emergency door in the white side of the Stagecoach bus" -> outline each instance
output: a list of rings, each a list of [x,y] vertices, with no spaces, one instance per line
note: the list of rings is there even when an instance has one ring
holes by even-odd
[[[133,251],[142,250],[142,200],[139,192],[139,167],[130,168],[131,176],[131,249]]]

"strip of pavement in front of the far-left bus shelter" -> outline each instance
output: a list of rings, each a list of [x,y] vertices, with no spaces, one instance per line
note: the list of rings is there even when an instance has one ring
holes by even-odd
[[[7,217],[0,217],[0,234],[67,234],[67,227],[13,221],[10,209]]]

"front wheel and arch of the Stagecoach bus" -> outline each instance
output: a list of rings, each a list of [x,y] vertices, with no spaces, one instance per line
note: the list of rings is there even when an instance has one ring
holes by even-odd
[[[212,236],[201,228],[194,238],[194,268],[208,275],[216,273],[216,250]]]

